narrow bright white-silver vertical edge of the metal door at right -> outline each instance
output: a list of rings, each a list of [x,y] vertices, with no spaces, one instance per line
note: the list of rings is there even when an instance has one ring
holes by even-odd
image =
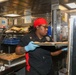
[[[70,75],[71,73],[71,57],[72,57],[72,46],[73,46],[73,18],[70,17],[70,25],[69,25],[69,50],[68,50],[68,64],[67,64],[67,68],[68,68],[68,75]]]

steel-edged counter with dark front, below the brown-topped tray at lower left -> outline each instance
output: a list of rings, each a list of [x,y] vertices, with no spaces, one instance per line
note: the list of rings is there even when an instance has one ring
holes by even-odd
[[[11,65],[4,64],[5,70],[0,72],[0,75],[11,75],[15,73],[16,71],[22,69],[25,67],[25,60],[16,62]]]

